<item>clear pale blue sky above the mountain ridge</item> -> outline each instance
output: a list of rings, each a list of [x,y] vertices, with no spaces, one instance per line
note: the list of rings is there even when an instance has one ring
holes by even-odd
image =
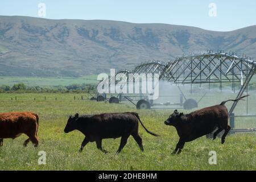
[[[46,4],[48,19],[108,19],[133,23],[168,23],[230,31],[256,24],[256,1],[243,0],[1,0],[0,15],[38,17]],[[210,3],[217,16],[210,17]]]

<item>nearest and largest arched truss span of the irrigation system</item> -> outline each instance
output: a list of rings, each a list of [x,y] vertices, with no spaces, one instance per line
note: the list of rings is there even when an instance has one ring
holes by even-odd
[[[168,81],[176,84],[241,82],[254,69],[254,61],[227,53],[183,56],[167,66]]]

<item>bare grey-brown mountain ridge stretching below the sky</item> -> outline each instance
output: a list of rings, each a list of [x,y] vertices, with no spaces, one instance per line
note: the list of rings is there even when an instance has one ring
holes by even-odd
[[[0,16],[0,76],[69,76],[131,69],[208,49],[256,57],[256,26],[218,32],[162,23]]]

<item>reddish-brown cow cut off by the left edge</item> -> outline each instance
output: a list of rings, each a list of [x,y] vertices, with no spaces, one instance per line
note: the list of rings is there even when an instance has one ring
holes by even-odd
[[[39,118],[35,113],[30,112],[10,112],[0,114],[0,146],[3,146],[3,138],[17,138],[21,134],[26,134],[29,138],[23,143],[34,143],[38,146],[38,123]]]

